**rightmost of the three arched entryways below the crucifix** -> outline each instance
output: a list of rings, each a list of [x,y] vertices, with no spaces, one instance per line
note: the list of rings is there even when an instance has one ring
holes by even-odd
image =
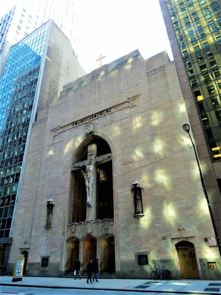
[[[105,234],[100,237],[100,271],[115,272],[114,236]]]

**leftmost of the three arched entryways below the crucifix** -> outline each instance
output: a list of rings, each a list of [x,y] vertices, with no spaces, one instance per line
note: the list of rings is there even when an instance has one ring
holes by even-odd
[[[71,236],[66,242],[66,264],[65,270],[74,271],[74,265],[79,258],[79,239],[75,236]]]

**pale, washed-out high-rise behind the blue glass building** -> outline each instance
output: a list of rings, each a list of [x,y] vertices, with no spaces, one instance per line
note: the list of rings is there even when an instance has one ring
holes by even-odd
[[[0,73],[10,47],[49,19],[53,19],[76,51],[79,36],[74,0],[20,0],[0,18]]]

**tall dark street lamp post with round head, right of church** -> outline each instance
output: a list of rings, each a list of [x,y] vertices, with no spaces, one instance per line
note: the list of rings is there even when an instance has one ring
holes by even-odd
[[[203,177],[203,173],[202,173],[202,169],[201,169],[201,166],[200,166],[199,158],[198,158],[198,155],[197,155],[197,152],[196,152],[195,145],[193,144],[193,140],[192,140],[192,138],[190,136],[190,125],[184,124],[183,125],[183,130],[186,131],[189,134],[190,140],[191,140],[192,145],[193,145],[193,149],[194,149],[195,158],[196,158],[196,162],[197,162],[198,169],[199,169],[199,175],[200,175],[200,180],[201,180],[201,184],[202,184],[204,196],[206,198],[207,205],[208,205],[208,208],[209,208],[209,212],[210,212],[210,217],[211,217],[212,224],[213,224],[214,233],[215,233],[215,236],[216,236],[217,245],[218,245],[218,249],[220,251],[220,256],[221,256],[221,243],[220,243],[220,238],[218,236],[216,225],[215,225],[215,222],[214,222],[213,212],[212,212],[212,209],[211,209],[209,195],[208,195],[208,192],[207,192],[206,183],[205,183],[205,179]]]

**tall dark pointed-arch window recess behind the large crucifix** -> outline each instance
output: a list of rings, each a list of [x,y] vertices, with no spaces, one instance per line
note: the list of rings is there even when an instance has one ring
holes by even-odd
[[[96,171],[94,175],[93,194],[94,209],[88,215],[87,197],[85,189],[85,178],[83,169],[75,169],[75,163],[85,163],[88,161],[88,147],[96,146]],[[109,143],[100,135],[89,134],[79,144],[73,155],[71,165],[70,181],[70,202],[69,202],[69,223],[84,222],[86,219],[112,219],[114,216],[113,209],[113,171],[111,147]],[[110,159],[105,159],[109,155]],[[94,157],[94,156],[93,156]],[[105,161],[102,161],[105,159]],[[96,209],[95,209],[96,208]]]

